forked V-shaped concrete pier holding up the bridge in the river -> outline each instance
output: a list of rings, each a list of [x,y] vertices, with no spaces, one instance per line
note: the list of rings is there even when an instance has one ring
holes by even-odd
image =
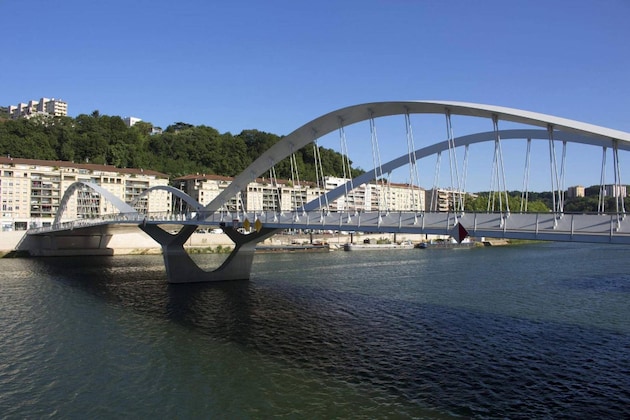
[[[256,244],[272,236],[277,229],[261,229],[260,232],[243,235],[226,228],[225,233],[234,242],[234,250],[225,262],[214,271],[202,270],[184,249],[184,244],[197,226],[184,226],[177,234],[165,232],[157,225],[146,224],[140,228],[162,246],[162,255],[169,283],[201,283],[226,280],[249,280]]]

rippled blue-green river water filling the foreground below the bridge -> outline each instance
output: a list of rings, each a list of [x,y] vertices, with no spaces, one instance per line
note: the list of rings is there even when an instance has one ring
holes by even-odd
[[[205,266],[216,255],[198,255]],[[3,418],[628,418],[630,248],[0,260]]]

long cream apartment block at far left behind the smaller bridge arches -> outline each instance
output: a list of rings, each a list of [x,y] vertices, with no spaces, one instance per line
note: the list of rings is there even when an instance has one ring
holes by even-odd
[[[77,181],[98,184],[127,203],[150,187],[168,185],[168,177],[156,171],[1,157],[1,229],[25,230],[50,225],[59,210],[63,194]],[[139,201],[136,208],[141,211],[171,211],[171,194],[166,191],[152,192]],[[83,188],[73,194],[63,220],[116,212],[117,209],[106,199],[89,188]]]

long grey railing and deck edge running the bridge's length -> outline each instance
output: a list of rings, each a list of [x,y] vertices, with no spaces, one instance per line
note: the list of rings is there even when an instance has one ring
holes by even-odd
[[[246,222],[247,220],[247,222]],[[630,243],[630,224],[625,214],[568,213],[452,213],[452,212],[333,212],[251,211],[191,213],[119,213],[78,219],[49,227],[30,229],[29,234],[73,230],[99,224],[187,224],[215,225],[223,228],[339,230],[357,232],[404,232],[450,234],[461,224],[471,236],[518,237],[542,240],[584,240],[595,242],[626,237]],[[618,239],[615,239],[618,240]],[[625,243],[625,242],[624,242]]]

